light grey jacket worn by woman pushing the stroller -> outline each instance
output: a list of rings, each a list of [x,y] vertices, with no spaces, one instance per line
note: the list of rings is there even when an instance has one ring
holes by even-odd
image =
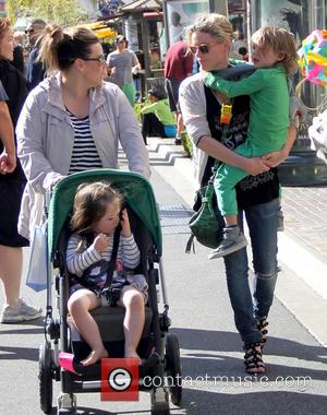
[[[104,167],[118,168],[119,142],[129,169],[149,177],[148,153],[134,111],[121,90],[104,82],[90,91],[89,122]],[[44,195],[69,173],[74,129],[65,111],[60,74],[34,88],[22,109],[17,127],[17,155],[27,178],[19,232],[29,238],[29,230],[43,222]]]

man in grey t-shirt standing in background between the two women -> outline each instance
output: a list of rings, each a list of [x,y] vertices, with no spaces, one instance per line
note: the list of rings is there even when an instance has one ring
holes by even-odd
[[[121,87],[132,106],[135,104],[136,88],[133,74],[137,74],[141,64],[136,55],[128,49],[126,38],[116,37],[116,50],[107,57],[110,81]]]

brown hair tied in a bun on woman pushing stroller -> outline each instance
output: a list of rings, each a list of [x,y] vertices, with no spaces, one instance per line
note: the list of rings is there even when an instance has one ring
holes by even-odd
[[[76,59],[89,58],[90,46],[99,43],[97,36],[84,27],[63,32],[58,24],[48,25],[40,43],[38,60],[48,72],[69,69]]]

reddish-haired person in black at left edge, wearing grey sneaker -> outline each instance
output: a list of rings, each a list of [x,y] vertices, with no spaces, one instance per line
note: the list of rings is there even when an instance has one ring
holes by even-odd
[[[11,64],[14,39],[8,19],[0,19],[0,80],[8,95],[8,107],[13,126],[26,97],[26,83],[21,72]],[[0,154],[3,151],[0,142]],[[25,176],[21,164],[12,173],[0,175],[0,278],[4,287],[5,303],[1,315],[2,323],[16,323],[33,320],[41,315],[20,298],[23,268],[23,247],[28,240],[17,233],[17,220]]]

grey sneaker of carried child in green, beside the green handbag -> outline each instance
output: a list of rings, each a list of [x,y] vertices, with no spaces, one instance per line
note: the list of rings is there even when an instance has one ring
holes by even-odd
[[[226,257],[247,245],[247,241],[239,226],[223,228],[222,240],[209,254],[208,259]]]

